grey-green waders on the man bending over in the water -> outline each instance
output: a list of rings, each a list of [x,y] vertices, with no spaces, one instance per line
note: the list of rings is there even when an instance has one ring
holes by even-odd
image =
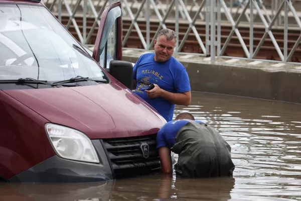
[[[232,176],[235,169],[231,147],[206,124],[190,122],[182,127],[172,151],[179,154],[175,170],[183,177]]]

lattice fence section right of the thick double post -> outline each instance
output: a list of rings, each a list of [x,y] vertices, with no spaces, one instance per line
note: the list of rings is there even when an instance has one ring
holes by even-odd
[[[240,14],[238,20],[236,22],[233,21],[233,19],[231,18],[231,15],[229,12],[227,12],[227,7],[224,3],[223,0],[218,0],[218,10],[219,9],[224,9],[226,11],[226,15],[228,20],[231,22],[232,25],[232,31],[230,32],[230,35],[228,36],[226,42],[224,43],[223,47],[221,47],[220,45],[218,45],[218,53],[217,55],[222,57],[227,45],[229,44],[229,41],[233,35],[233,33],[235,32],[239,42],[242,45],[242,48],[245,52],[245,54],[247,55],[248,59],[254,59],[255,56],[257,55],[258,51],[260,50],[260,48],[262,47],[263,42],[265,41],[266,37],[269,36],[272,44],[275,48],[275,50],[277,51],[280,59],[282,62],[288,62],[291,58],[291,56],[293,55],[293,53],[295,52],[296,48],[298,47],[300,40],[301,40],[301,35],[299,34],[299,37],[297,38],[297,40],[295,41],[293,47],[291,48],[290,52],[288,53],[288,13],[290,12],[291,16],[294,18],[294,20],[296,21],[297,24],[297,28],[301,31],[301,21],[300,21],[300,15],[297,14],[297,12],[295,11],[294,7],[292,6],[291,1],[289,0],[283,0],[281,1],[280,7],[277,9],[276,14],[273,16],[273,18],[267,22],[266,18],[263,16],[260,7],[258,5],[258,3],[255,0],[248,0],[247,5],[249,5],[250,8],[250,36],[249,36],[249,49],[246,47],[245,42],[243,40],[243,38],[241,37],[239,30],[238,30],[238,24],[240,23],[240,19],[241,16],[245,13],[246,11],[246,7],[244,8],[244,10],[242,11],[242,13]],[[265,28],[265,33],[263,34],[262,38],[260,39],[259,44],[257,45],[256,49],[253,51],[253,28],[254,28],[254,23],[253,23],[253,14],[254,11],[256,11],[256,13],[258,13],[262,24]],[[284,10],[284,11],[283,11]],[[274,26],[275,21],[277,20],[277,18],[280,16],[280,14],[283,13],[284,14],[284,27],[283,27],[283,51],[281,51],[271,29]],[[220,19],[220,17],[219,17]],[[218,40],[221,38],[220,35],[220,29],[221,29],[221,23],[220,21],[218,22]],[[220,42],[218,42],[220,44]],[[301,55],[300,55],[301,56]],[[214,58],[212,58],[214,59]]]

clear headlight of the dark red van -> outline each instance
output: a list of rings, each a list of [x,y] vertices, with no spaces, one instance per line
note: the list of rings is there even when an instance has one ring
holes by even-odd
[[[99,163],[94,146],[84,133],[56,124],[47,124],[46,131],[52,146],[60,157]]]

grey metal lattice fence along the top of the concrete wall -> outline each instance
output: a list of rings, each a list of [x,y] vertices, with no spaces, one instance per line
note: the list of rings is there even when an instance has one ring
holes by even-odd
[[[181,42],[178,40],[175,52],[180,53],[187,38],[195,36],[201,52],[200,55],[211,56],[215,61],[224,55],[233,35],[236,35],[241,45],[245,59],[256,60],[255,57],[262,47],[263,42],[269,37],[273,48],[277,51],[280,58],[277,62],[290,62],[290,59],[296,49],[299,49],[301,40],[301,1],[291,0],[271,0],[262,2],[262,0],[120,0],[122,5],[123,20],[130,20],[131,25],[127,30],[123,46],[126,44],[132,31],[137,32],[144,50],[150,50],[154,46],[154,40],[162,28],[167,27],[167,23],[174,23],[174,29],[179,35],[183,35]],[[86,44],[89,41],[95,28],[99,25],[100,16],[106,6],[115,0],[44,0],[44,4],[55,14],[59,20],[62,15],[69,16],[67,28],[74,26],[81,43]],[[82,32],[80,31],[75,16],[82,16]],[[89,27],[87,33],[87,18],[93,18],[94,23]],[[139,22],[146,23],[146,30],[141,29]],[[159,22],[159,26],[152,38],[150,38],[150,23]],[[187,25],[186,31],[183,27],[180,30],[180,24]],[[222,39],[222,25],[230,24],[231,31],[225,42]],[[201,39],[202,34],[196,28],[197,24],[203,24],[206,27],[205,40]],[[240,27],[249,28],[249,37],[242,37]],[[254,45],[253,30],[254,27],[263,27],[264,33],[259,43]],[[283,40],[279,42],[273,35],[272,29],[278,28],[283,32]],[[299,31],[297,39],[293,42],[288,38],[289,30]],[[142,33],[143,32],[143,33]],[[247,41],[246,41],[247,40]],[[248,43],[248,44],[246,44]],[[191,53],[191,52],[190,52]],[[189,54],[190,54],[189,53]],[[301,58],[301,55],[300,55]]]

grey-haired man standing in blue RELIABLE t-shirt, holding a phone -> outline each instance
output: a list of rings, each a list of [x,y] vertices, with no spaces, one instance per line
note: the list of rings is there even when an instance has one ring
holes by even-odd
[[[172,57],[176,40],[173,30],[162,29],[155,40],[155,53],[141,55],[133,69],[135,93],[167,122],[173,119],[175,105],[188,106],[191,102],[186,68]],[[147,90],[152,83],[155,87]]]

